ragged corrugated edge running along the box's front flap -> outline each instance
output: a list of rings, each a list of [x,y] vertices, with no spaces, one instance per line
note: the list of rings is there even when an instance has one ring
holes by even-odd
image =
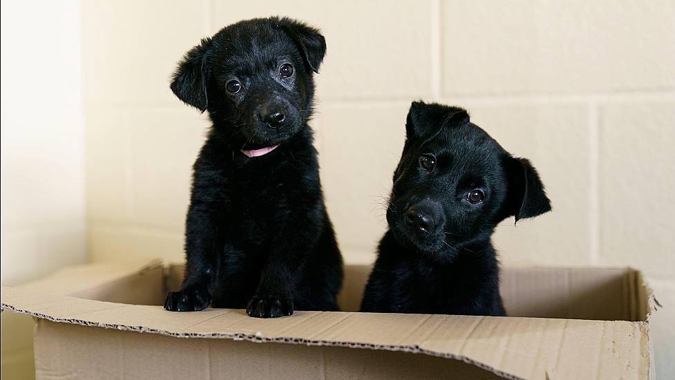
[[[54,316],[49,316],[46,314],[41,314],[37,312],[32,312],[30,310],[22,310],[12,305],[6,303],[1,303],[0,307],[2,310],[10,310],[19,314],[26,314],[33,316],[38,319],[44,319],[46,321],[56,322],[56,323],[68,323],[72,325],[82,325],[89,327],[103,327],[106,329],[113,330],[122,330],[122,331],[132,331],[132,332],[146,332],[150,334],[160,334],[164,336],[172,336],[175,338],[204,338],[204,339],[231,339],[234,341],[251,341],[257,343],[290,343],[298,345],[326,345],[331,347],[346,347],[346,348],[361,348],[365,350],[386,350],[386,351],[401,351],[401,352],[410,352],[412,354],[425,354],[432,357],[442,357],[446,359],[454,359],[458,361],[463,361],[470,365],[475,365],[478,368],[497,374],[497,376],[503,377],[504,379],[513,379],[521,380],[524,378],[517,377],[513,374],[498,370],[493,368],[490,365],[486,365],[482,362],[475,361],[464,355],[448,354],[445,352],[437,352],[434,350],[426,350],[420,348],[418,345],[379,345],[374,343],[359,343],[359,342],[347,342],[347,341],[323,341],[323,340],[312,340],[312,339],[301,339],[301,338],[290,338],[284,336],[277,337],[265,337],[258,336],[256,334],[245,334],[245,333],[235,333],[235,334],[222,334],[222,333],[211,333],[211,334],[202,334],[202,333],[177,333],[171,332],[168,330],[160,330],[151,327],[144,326],[131,326],[131,325],[118,325],[110,323],[95,323],[91,321],[84,321],[82,319],[64,319],[64,318],[55,318]]]

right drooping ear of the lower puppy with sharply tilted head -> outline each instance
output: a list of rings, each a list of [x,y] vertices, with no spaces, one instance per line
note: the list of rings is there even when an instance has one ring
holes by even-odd
[[[529,160],[509,156],[504,166],[508,178],[506,216],[515,216],[517,222],[551,211],[551,201],[546,197],[544,184]]]

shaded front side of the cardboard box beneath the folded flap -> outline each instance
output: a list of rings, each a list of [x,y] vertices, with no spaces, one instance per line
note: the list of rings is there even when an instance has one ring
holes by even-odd
[[[463,361],[402,351],[178,339],[44,319],[35,330],[39,380],[500,379]]]

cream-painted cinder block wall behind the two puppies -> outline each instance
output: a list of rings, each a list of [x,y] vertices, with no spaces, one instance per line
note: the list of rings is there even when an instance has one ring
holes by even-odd
[[[240,19],[319,26],[317,131],[345,258],[370,263],[412,99],[468,108],[540,170],[554,211],[509,220],[504,265],[631,265],[664,305],[675,377],[675,3],[656,1],[85,1],[91,260],[182,260],[190,167],[207,122],[168,87],[201,37]]]

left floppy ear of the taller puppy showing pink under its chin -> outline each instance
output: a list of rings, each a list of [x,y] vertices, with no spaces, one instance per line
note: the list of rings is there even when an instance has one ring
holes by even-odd
[[[171,79],[171,91],[183,102],[204,112],[209,106],[207,97],[207,52],[211,39],[202,39],[202,43],[185,53]]]

